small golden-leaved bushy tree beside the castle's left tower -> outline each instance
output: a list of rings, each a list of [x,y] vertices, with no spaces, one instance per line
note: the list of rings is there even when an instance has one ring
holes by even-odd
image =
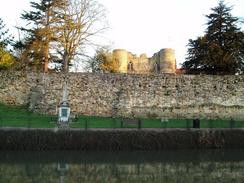
[[[95,55],[90,58],[85,70],[91,72],[117,72],[118,62],[113,60],[113,55],[108,47],[101,47],[96,50]]]

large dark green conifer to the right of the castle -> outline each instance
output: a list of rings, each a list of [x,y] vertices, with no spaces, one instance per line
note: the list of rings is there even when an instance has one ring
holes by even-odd
[[[188,73],[235,74],[244,71],[244,33],[239,19],[231,15],[232,7],[219,1],[206,15],[205,35],[189,40],[188,56],[183,68]]]

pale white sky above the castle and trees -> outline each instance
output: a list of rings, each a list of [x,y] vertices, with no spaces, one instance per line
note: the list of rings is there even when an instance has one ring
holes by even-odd
[[[35,1],[35,0],[32,0]],[[97,0],[107,11],[109,29],[104,44],[151,57],[162,48],[173,48],[178,67],[184,62],[189,39],[201,36],[206,28],[204,15],[218,0]],[[225,0],[232,14],[244,18],[244,0]],[[23,25],[20,15],[30,9],[29,0],[6,0],[0,17],[18,37],[15,26]],[[244,26],[243,26],[244,29]],[[102,43],[103,44],[103,43]]]

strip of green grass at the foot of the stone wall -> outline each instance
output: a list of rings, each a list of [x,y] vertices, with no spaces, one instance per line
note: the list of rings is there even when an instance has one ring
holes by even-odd
[[[121,118],[78,116],[70,123],[70,128],[121,128]],[[54,128],[57,116],[31,113],[26,107],[0,104],[0,127]],[[201,128],[230,128],[230,120],[201,120]],[[142,119],[141,128],[191,128],[192,120]],[[244,121],[235,121],[233,128],[244,128]],[[123,124],[123,128],[138,128],[136,124]]]

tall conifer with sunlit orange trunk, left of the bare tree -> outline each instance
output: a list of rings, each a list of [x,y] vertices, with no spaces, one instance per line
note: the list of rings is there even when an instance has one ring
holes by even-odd
[[[54,23],[59,21],[55,9],[62,6],[62,0],[31,2],[33,10],[25,11],[21,17],[27,22],[25,27],[20,28],[27,34],[25,39],[18,43],[23,49],[22,59],[29,58],[31,65],[43,67],[44,72],[48,72],[48,63],[54,58],[50,54],[50,42],[55,40],[54,32],[57,29]]]

